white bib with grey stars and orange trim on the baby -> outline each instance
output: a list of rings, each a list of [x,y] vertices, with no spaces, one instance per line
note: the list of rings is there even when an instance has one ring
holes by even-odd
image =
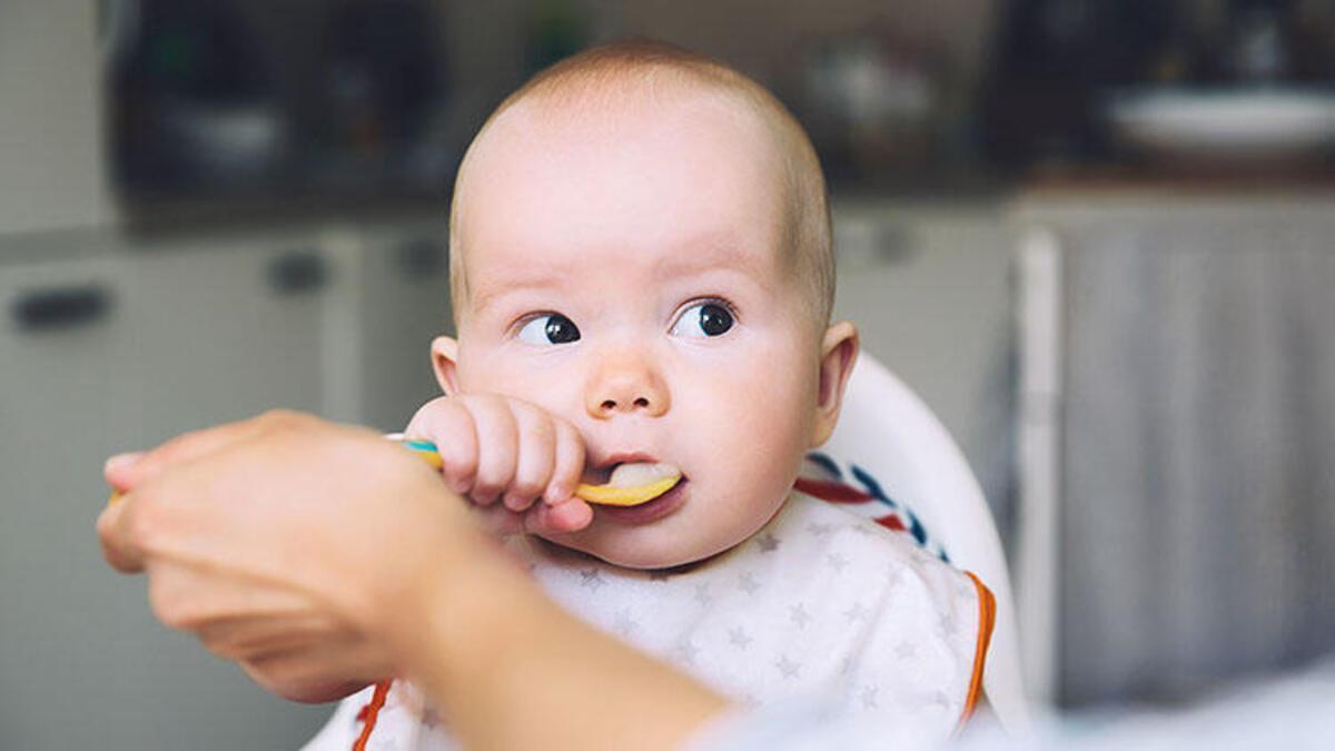
[[[526,537],[510,547],[570,612],[742,703],[837,696],[842,711],[944,740],[977,690],[989,624],[976,580],[908,535],[797,490],[757,535],[678,573]],[[370,696],[344,699],[307,748],[351,748]],[[398,682],[367,748],[451,748],[421,707]]]

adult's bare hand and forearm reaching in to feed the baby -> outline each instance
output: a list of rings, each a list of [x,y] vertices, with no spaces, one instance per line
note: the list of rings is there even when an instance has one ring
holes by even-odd
[[[270,691],[423,686],[469,748],[677,748],[728,703],[546,599],[419,458],[271,413],[108,462],[111,565]]]

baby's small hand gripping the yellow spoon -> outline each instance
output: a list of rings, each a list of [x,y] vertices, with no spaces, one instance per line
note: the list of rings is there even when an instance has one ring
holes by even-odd
[[[575,532],[593,520],[574,497],[583,438],[539,406],[493,394],[438,397],[413,416],[405,436],[435,442],[445,480],[498,535]]]

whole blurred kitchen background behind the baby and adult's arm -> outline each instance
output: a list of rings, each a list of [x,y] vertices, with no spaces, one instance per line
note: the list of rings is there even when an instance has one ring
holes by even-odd
[[[101,461],[435,393],[451,179],[647,35],[772,88],[837,314],[960,441],[1027,680],[1177,706],[1335,649],[1335,0],[0,0],[0,747],[284,748],[101,563]]]

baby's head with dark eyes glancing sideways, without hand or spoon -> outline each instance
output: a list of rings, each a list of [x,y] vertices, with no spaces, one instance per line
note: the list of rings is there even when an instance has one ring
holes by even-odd
[[[712,556],[769,521],[834,428],[857,334],[829,325],[820,163],[736,71],[623,43],[539,73],[469,147],[450,249],[446,393],[570,421],[587,482],[623,461],[682,472],[555,543],[635,568]]]

